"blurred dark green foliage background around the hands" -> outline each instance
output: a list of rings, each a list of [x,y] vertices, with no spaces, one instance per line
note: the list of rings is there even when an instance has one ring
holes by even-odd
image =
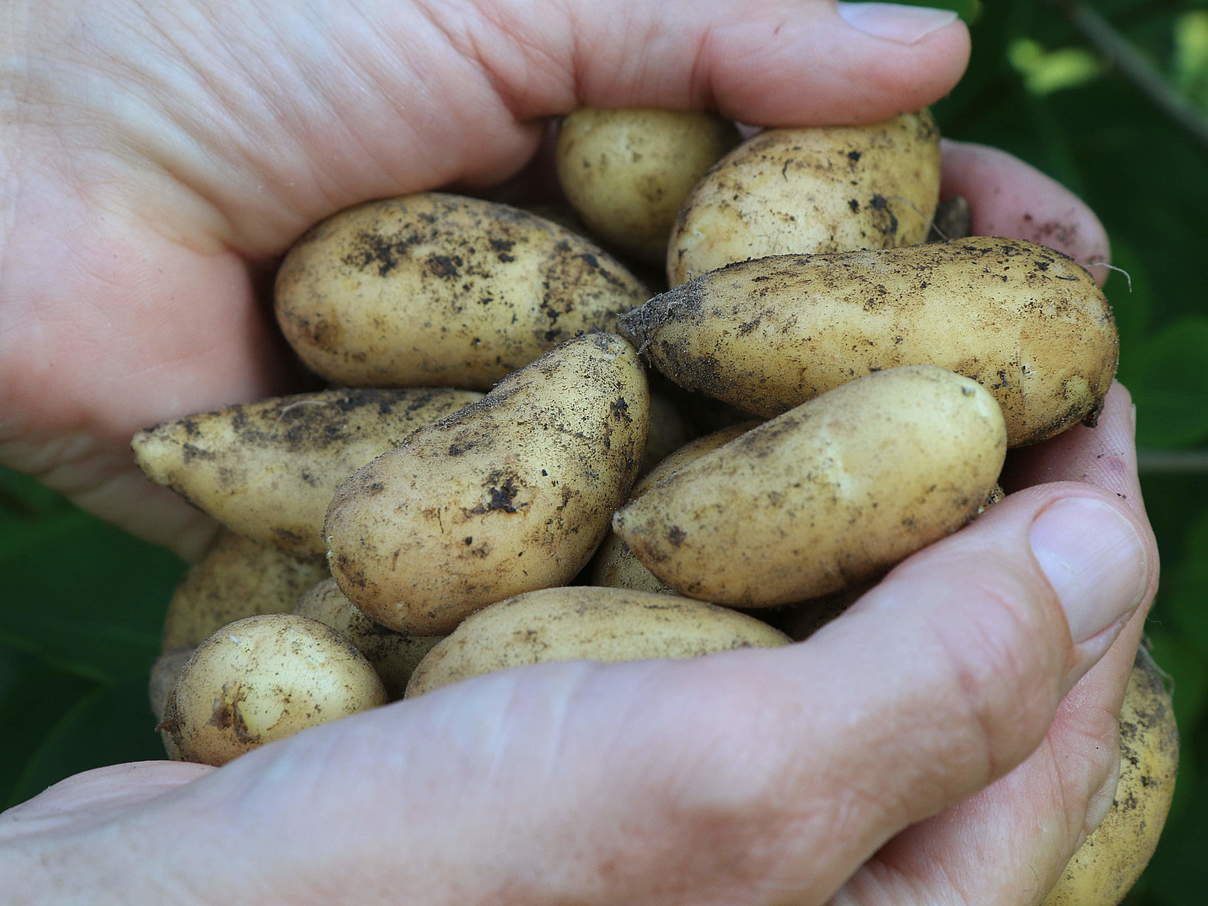
[[[1139,411],[1163,559],[1149,625],[1184,739],[1162,844],[1127,902],[1208,890],[1208,1],[936,1],[972,23],[974,58],[936,106],[945,134],[1004,147],[1099,213],[1115,263],[1121,379]],[[161,757],[146,704],[184,564],[0,471],[0,808],[77,771]]]

